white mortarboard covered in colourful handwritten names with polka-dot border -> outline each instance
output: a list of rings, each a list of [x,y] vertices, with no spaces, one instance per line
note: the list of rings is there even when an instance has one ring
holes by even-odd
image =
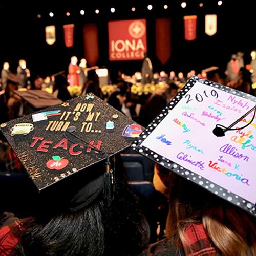
[[[252,95],[194,76],[133,147],[256,216],[255,105]]]

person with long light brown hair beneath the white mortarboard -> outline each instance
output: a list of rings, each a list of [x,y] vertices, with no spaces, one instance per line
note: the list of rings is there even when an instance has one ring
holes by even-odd
[[[173,172],[167,183],[167,237],[143,255],[256,255],[255,217]]]

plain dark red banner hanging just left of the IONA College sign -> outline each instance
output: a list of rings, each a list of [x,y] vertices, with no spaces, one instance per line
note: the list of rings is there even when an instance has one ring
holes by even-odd
[[[99,59],[98,27],[96,23],[83,25],[84,57],[90,66],[95,66]]]

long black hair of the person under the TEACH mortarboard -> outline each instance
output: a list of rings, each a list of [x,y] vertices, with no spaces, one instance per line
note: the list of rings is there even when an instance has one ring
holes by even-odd
[[[100,172],[102,167],[103,164],[96,164],[91,169],[94,171],[92,173]],[[82,181],[84,183],[88,176],[84,173],[87,172],[77,174],[74,187]],[[65,185],[62,184],[63,187]],[[73,189],[71,187],[70,193],[73,193]],[[66,191],[63,197],[68,193]],[[52,211],[51,203],[46,207]],[[55,209],[60,208],[55,206]],[[53,210],[52,216],[47,216],[44,210],[38,212],[35,220],[28,223],[26,230],[20,234],[16,255],[138,255],[147,245],[147,222],[138,210],[122,168],[118,166],[115,194],[110,206],[106,205],[101,194],[78,212],[61,211],[57,214]]]

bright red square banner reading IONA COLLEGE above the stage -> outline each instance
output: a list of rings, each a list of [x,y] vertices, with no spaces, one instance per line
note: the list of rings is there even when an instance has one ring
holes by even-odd
[[[109,22],[109,60],[143,59],[146,47],[146,20]]]

